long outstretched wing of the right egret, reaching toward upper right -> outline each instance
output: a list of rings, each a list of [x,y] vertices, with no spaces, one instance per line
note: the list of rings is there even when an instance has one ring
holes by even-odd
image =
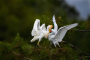
[[[56,42],[56,43],[61,42],[62,39],[64,38],[66,32],[69,29],[76,27],[77,25],[78,25],[77,23],[74,23],[74,24],[66,25],[66,26],[59,28],[58,32],[55,34],[55,36],[53,38],[53,42]]]

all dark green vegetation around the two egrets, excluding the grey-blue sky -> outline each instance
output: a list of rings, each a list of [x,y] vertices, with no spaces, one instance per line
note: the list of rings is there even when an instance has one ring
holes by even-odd
[[[90,17],[79,19],[79,13],[64,0],[0,0],[0,7],[0,60],[89,60]],[[44,38],[41,47],[37,41],[30,43],[35,19],[47,26],[53,24],[53,14],[59,27],[79,25],[67,32],[61,47]]]

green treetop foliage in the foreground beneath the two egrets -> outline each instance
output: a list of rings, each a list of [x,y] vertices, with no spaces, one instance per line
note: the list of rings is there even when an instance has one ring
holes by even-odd
[[[24,57],[28,57],[33,60],[76,60],[80,57],[85,57],[85,55],[80,56],[82,52],[72,48],[69,44],[61,42],[61,47],[55,48],[45,39],[40,44],[41,47],[27,44],[23,38],[20,37],[19,33],[17,33],[17,36],[11,44],[0,42],[0,59],[20,60],[25,59]],[[86,58],[83,58],[83,60],[84,59]]]

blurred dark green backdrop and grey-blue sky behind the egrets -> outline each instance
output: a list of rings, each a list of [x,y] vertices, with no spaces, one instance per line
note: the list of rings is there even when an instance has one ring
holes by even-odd
[[[79,23],[63,40],[90,54],[89,0],[0,0],[0,42],[12,44],[19,34],[27,44],[36,45],[30,43],[35,19],[47,26],[53,24],[54,14],[59,27]]]

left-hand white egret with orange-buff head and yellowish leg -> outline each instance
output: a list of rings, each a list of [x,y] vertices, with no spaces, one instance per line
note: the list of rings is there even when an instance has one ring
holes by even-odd
[[[41,39],[43,37],[47,38],[50,32],[50,29],[52,28],[52,25],[48,25],[47,29],[45,27],[45,24],[42,24],[40,26],[40,20],[36,19],[34,26],[33,26],[33,30],[31,32],[31,35],[34,36],[34,38],[30,41],[30,42],[34,42],[36,40],[39,39],[37,45],[39,46],[39,42],[41,41]]]

